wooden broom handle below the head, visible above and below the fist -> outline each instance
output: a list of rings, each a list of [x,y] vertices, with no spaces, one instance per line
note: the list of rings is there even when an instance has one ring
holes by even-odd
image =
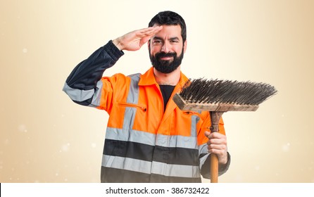
[[[211,111],[211,132],[219,132],[219,120],[223,112]],[[211,154],[211,183],[218,183],[218,156]]]

